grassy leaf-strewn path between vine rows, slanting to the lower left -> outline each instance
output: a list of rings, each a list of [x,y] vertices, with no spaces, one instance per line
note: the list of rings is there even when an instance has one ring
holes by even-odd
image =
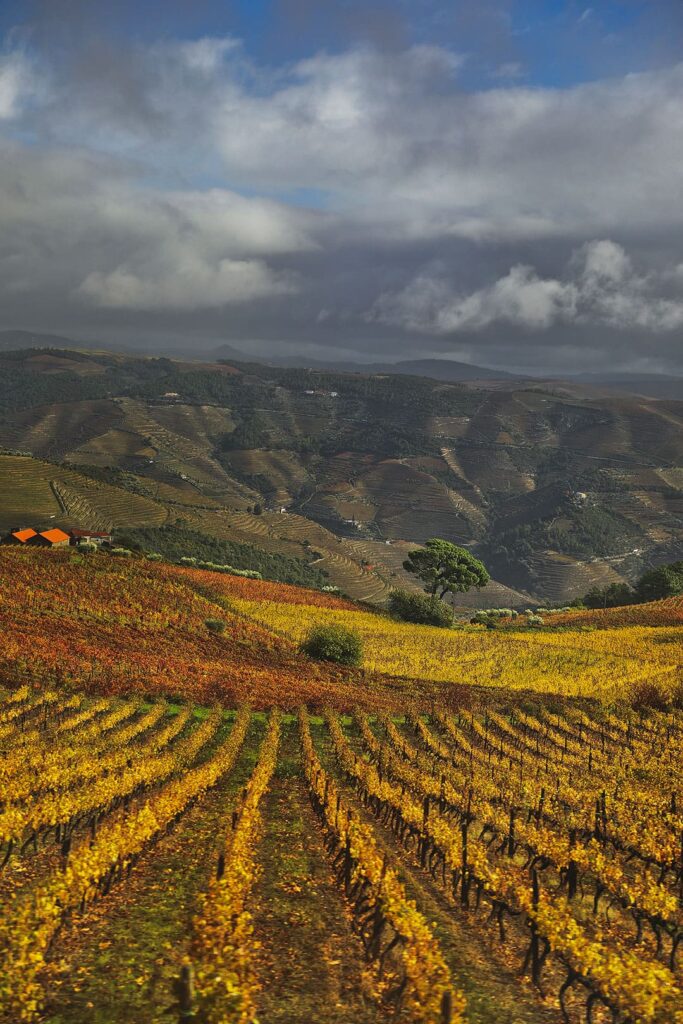
[[[162,1024],[190,936],[196,899],[214,869],[237,794],[253,769],[263,722],[252,720],[224,781],[116,887],[65,931],[47,976],[46,1024]]]

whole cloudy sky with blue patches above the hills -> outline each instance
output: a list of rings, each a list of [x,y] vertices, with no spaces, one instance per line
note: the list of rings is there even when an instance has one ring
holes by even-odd
[[[0,329],[683,373],[680,0],[2,0]]]

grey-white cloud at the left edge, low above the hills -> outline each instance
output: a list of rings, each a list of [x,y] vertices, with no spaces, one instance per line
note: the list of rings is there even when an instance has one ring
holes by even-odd
[[[14,294],[55,286],[131,310],[202,309],[297,290],[268,258],[315,249],[315,218],[227,189],[142,187],[87,154],[0,146],[0,268]]]

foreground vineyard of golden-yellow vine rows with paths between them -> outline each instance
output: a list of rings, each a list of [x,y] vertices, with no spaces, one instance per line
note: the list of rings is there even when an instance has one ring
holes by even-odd
[[[22,687],[0,749],[7,1024],[683,1020],[680,713]]]

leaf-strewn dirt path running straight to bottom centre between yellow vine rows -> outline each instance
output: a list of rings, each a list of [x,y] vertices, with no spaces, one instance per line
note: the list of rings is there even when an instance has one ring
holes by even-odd
[[[286,723],[265,804],[263,874],[254,893],[261,944],[261,1004],[267,1024],[370,1024],[372,969],[322,846],[298,757],[296,722]]]

